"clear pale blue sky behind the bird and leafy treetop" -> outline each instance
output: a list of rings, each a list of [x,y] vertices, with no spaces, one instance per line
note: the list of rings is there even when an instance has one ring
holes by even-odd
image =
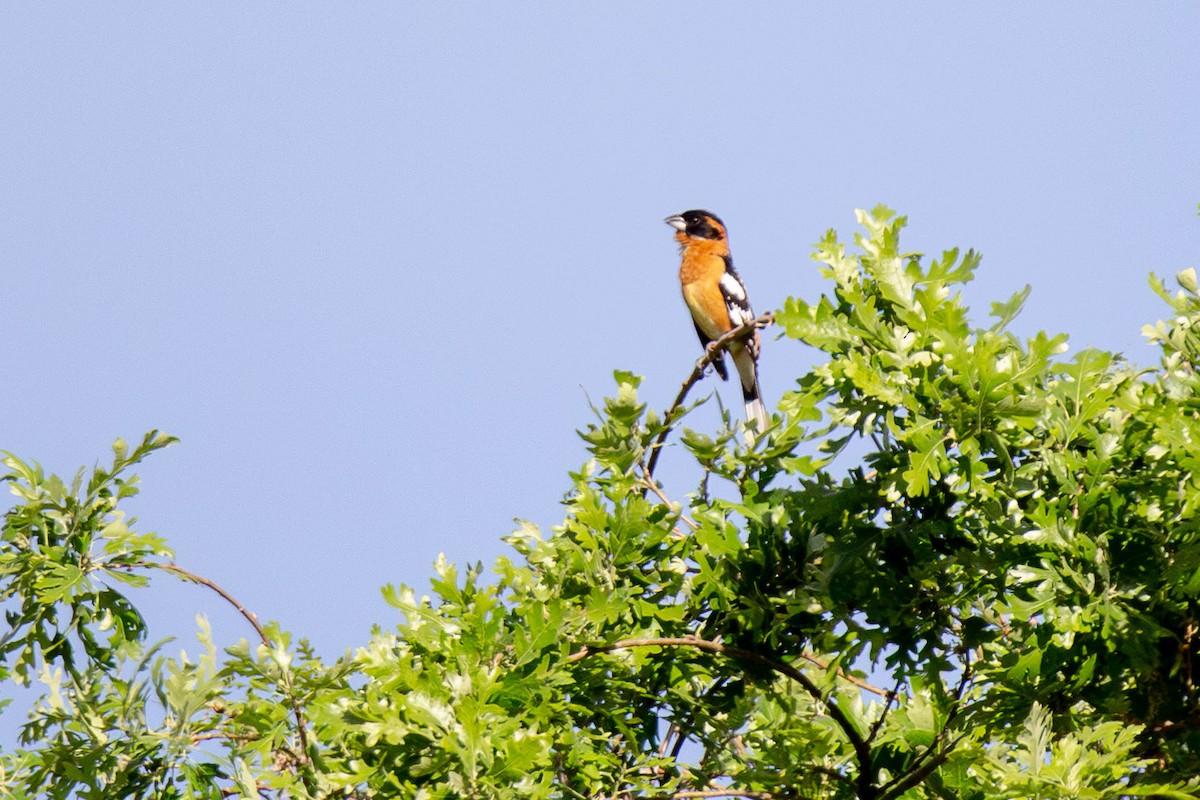
[[[340,655],[395,619],[382,584],[560,518],[614,368],[673,397],[668,213],[720,213],[766,311],[887,203],[908,248],[983,252],[980,319],[1030,283],[1018,331],[1152,362],[1146,275],[1200,260],[1196,31],[1182,2],[5,4],[0,447],[70,474],[179,435],[142,528]],[[766,343],[768,405],[810,361]],[[166,578],[137,601],[184,644],[198,612],[250,633]]]

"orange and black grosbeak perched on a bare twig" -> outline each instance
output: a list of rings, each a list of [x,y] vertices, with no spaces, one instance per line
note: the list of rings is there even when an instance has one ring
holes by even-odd
[[[683,300],[696,324],[700,343],[708,347],[722,333],[755,318],[745,284],[733,269],[725,223],[715,213],[698,209],[667,217],[665,222],[676,229],[676,241],[683,257],[679,264]],[[757,421],[760,432],[767,429],[769,419],[758,390],[761,347],[758,331],[755,331],[752,337],[733,342],[728,348],[742,379],[746,421]],[[713,360],[713,367],[721,380],[728,380],[724,353]]]

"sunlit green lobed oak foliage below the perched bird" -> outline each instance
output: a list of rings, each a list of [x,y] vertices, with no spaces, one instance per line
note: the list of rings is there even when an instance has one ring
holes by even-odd
[[[640,380],[582,432],[551,535],[490,573],[385,590],[398,621],[326,664],[274,626],[145,644],[132,587],[223,589],[133,533],[115,446],[86,485],[10,456],[0,678],[44,696],[13,798],[1200,796],[1200,289],[1153,369],[977,327],[979,258],[860,212],[775,313],[821,355],[766,432],[668,429]],[[787,356],[768,348],[773,369]],[[671,495],[674,494],[672,498]]]

